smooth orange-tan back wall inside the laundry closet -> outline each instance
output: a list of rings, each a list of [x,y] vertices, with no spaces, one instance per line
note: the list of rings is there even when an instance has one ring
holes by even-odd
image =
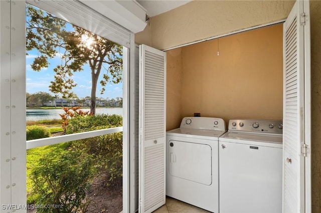
[[[219,56],[217,39],[182,48],[181,116],[282,120],[282,27],[220,38]]]

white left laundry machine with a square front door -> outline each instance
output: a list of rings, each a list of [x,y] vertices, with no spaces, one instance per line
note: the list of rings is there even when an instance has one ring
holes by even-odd
[[[219,212],[218,138],[226,132],[221,118],[185,117],[167,132],[166,194]]]

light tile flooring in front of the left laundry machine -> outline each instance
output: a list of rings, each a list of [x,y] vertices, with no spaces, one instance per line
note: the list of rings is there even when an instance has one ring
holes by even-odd
[[[153,213],[209,213],[210,211],[182,202],[172,197],[166,197],[166,204]]]

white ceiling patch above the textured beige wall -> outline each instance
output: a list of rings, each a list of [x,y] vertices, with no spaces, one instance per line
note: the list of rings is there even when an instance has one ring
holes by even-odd
[[[137,0],[147,10],[149,17],[156,16],[185,5],[192,0]]]

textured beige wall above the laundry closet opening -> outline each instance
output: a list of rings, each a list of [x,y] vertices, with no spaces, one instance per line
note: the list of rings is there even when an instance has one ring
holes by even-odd
[[[293,1],[192,1],[151,18],[150,45],[164,50],[282,20],[293,4]],[[145,33],[149,34],[137,36]]]

